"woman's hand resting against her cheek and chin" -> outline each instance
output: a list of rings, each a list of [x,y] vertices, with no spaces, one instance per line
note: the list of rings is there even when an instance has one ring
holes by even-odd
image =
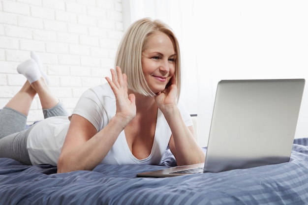
[[[170,86],[163,91],[156,93],[154,99],[157,107],[164,113],[165,110],[172,106],[177,106],[177,80],[175,76],[170,79]]]

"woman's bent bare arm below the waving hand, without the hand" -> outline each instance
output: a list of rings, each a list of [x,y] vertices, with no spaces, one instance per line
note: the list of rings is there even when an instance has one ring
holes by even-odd
[[[117,117],[99,132],[84,117],[72,115],[58,160],[58,173],[92,170],[107,155],[125,123]]]

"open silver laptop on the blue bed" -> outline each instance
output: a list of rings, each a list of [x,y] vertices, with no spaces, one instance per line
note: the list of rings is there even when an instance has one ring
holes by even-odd
[[[205,162],[137,176],[218,173],[289,162],[304,87],[305,79],[220,81]]]

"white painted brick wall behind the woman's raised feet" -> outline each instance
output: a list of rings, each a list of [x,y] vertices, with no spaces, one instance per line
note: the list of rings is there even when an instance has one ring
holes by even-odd
[[[71,112],[105,83],[123,35],[122,0],[0,0],[0,108],[26,78],[16,67],[35,51],[51,90]],[[38,97],[28,123],[43,118]]]

